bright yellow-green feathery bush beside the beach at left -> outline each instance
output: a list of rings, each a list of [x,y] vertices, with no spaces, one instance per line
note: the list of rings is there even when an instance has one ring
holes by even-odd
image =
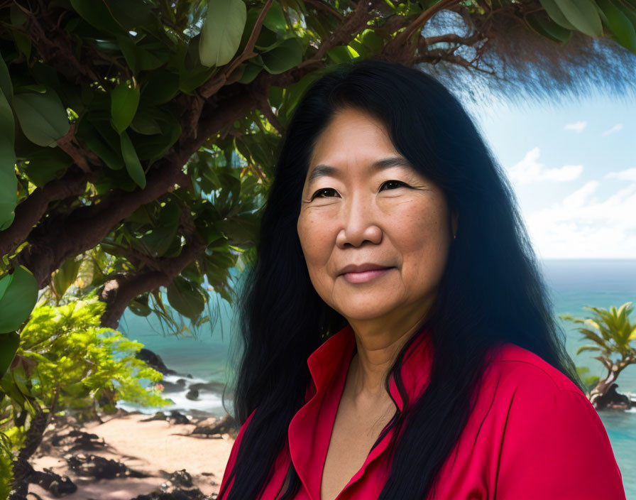
[[[170,404],[156,388],[144,388],[141,379],[157,382],[160,372],[135,354],[142,344],[120,332],[99,327],[106,304],[96,297],[57,307],[38,305],[20,332],[20,346],[11,369],[0,381],[9,398],[0,402],[0,425],[13,448],[25,429],[16,425],[23,411],[72,410],[92,418],[97,410],[111,413],[118,400],[144,406]]]

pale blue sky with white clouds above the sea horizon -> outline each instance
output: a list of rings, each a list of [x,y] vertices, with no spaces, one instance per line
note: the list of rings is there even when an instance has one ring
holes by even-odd
[[[636,259],[636,99],[465,104],[539,259]]]

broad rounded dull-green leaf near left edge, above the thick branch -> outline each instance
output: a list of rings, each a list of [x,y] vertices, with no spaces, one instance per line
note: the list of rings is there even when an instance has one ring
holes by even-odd
[[[55,90],[24,92],[13,96],[13,109],[24,135],[38,146],[51,146],[69,129],[66,109]]]

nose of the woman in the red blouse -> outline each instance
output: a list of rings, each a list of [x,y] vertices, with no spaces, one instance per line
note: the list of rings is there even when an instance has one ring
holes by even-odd
[[[382,229],[375,208],[369,196],[357,195],[345,202],[340,214],[336,244],[341,248],[361,246],[365,241],[379,244],[382,241]]]

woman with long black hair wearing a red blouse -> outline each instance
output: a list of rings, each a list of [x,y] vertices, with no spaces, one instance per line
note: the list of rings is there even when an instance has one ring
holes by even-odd
[[[219,499],[625,499],[512,190],[432,77],[307,89],[257,254]]]

